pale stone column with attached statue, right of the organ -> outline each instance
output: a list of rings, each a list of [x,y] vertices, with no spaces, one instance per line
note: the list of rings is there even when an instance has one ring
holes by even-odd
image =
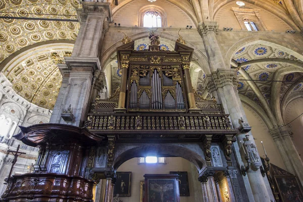
[[[234,89],[236,87],[236,75],[234,70],[227,70],[227,69],[218,69],[216,72],[213,72],[212,81],[209,82],[209,89],[210,91],[217,91],[218,99],[220,100],[224,112],[230,114],[231,122],[235,129],[241,127],[239,120],[241,117],[243,118],[244,123],[247,123],[244,111],[242,111],[241,103],[237,98],[238,94],[237,91]],[[247,126],[249,128],[249,126]],[[240,143],[240,141],[246,140],[246,135],[249,136],[249,140],[244,143]],[[240,164],[247,165],[246,162],[246,155],[244,154],[244,146],[249,142],[251,145],[256,145],[254,138],[252,137],[251,133],[247,130],[239,131],[236,135],[238,145],[235,147],[238,150],[238,154],[236,155],[238,158],[238,162]],[[248,142],[249,141],[249,142]],[[249,144],[250,145],[250,144]],[[250,149],[250,148],[249,148]],[[249,180],[249,185],[254,196],[254,199],[249,198],[250,201],[270,201],[270,199],[274,199],[273,194],[267,191],[267,186],[269,184],[265,184],[261,172],[259,171],[259,167],[261,166],[261,160],[257,148],[253,147],[254,156],[248,154],[248,161],[250,162],[249,170],[247,171],[247,177]],[[252,151],[251,151],[252,152]],[[247,152],[246,152],[247,153]],[[252,153],[251,153],[252,154]],[[259,161],[260,160],[260,161]],[[239,165],[240,166],[240,165]],[[245,177],[244,177],[245,178]],[[244,180],[245,181],[245,180]],[[249,187],[246,187],[246,190]],[[247,192],[248,192],[247,191]]]

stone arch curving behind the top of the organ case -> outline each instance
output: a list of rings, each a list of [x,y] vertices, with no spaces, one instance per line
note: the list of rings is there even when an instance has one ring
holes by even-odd
[[[148,35],[148,31],[149,30],[146,29],[146,31],[142,31],[140,33],[135,33],[135,34],[129,35],[129,37],[132,40],[138,40],[141,38],[145,38]],[[194,30],[192,30],[192,31],[195,32]],[[167,42],[169,41],[169,43],[174,44],[177,39],[178,39],[178,36],[163,32],[160,40],[166,40]],[[106,49],[100,55],[99,58],[100,58],[101,67],[107,67],[107,65],[110,62],[112,62],[111,58],[113,58],[113,56],[116,55],[117,47],[119,47],[121,45],[122,45],[122,43],[119,40],[116,43],[113,43],[113,45],[111,45],[108,49]],[[186,45],[194,49],[193,56],[195,58],[197,58],[197,60],[198,60],[197,63],[199,64],[199,66],[204,68],[203,71],[205,72],[205,74],[210,74],[211,71],[209,68],[207,56],[204,55],[204,53],[201,52],[199,50],[199,48],[197,48],[194,44],[186,41]],[[104,69],[102,71],[104,71]]]

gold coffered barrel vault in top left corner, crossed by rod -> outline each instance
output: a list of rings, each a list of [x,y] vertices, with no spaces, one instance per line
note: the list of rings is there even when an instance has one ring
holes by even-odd
[[[77,19],[76,9],[80,6],[77,0],[0,0],[0,15]],[[0,62],[37,42],[76,40],[79,27],[78,22],[0,19]]]

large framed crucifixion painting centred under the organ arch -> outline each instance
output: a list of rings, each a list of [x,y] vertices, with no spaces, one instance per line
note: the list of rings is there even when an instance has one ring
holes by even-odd
[[[144,202],[180,202],[177,174],[145,174]]]

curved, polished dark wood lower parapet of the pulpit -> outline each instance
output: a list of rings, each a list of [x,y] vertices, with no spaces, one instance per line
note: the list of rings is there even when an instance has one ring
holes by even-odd
[[[80,176],[55,173],[14,175],[4,192],[4,201],[92,201],[93,181]],[[59,201],[59,200],[56,200]]]

